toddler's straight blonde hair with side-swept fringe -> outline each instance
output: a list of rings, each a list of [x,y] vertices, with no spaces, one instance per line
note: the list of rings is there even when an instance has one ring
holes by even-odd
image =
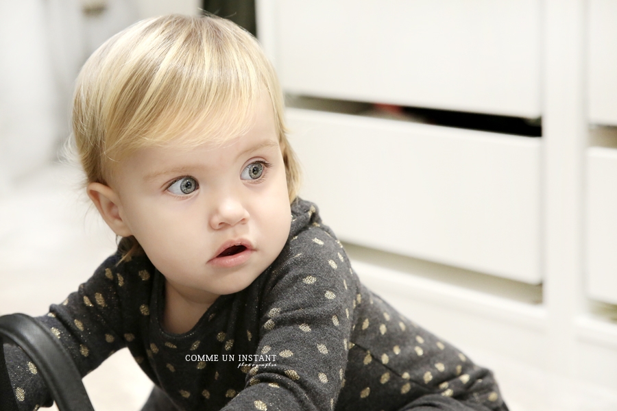
[[[114,163],[141,148],[190,149],[243,134],[264,92],[274,108],[291,202],[300,167],[285,134],[276,73],[257,40],[213,15],[135,23],[99,47],[77,77],[74,146],[86,184],[108,184]]]

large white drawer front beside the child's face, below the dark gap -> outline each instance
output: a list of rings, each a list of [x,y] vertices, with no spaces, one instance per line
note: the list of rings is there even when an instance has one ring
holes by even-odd
[[[537,284],[540,139],[288,109],[302,197],[348,242]]]

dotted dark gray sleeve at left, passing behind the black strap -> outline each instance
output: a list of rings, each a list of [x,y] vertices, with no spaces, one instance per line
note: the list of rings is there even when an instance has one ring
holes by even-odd
[[[77,292],[36,318],[69,351],[82,377],[125,346],[116,290],[118,274],[114,273],[117,260],[117,256],[108,258]],[[51,406],[53,399],[32,360],[19,347],[5,345],[4,349],[19,410]]]

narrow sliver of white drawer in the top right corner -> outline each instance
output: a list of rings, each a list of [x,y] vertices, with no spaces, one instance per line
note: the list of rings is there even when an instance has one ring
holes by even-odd
[[[589,115],[617,125],[617,1],[589,2]]]

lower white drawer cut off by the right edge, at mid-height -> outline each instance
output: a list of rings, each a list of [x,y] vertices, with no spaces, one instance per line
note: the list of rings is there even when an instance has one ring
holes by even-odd
[[[591,147],[587,161],[588,292],[617,304],[617,149]]]

